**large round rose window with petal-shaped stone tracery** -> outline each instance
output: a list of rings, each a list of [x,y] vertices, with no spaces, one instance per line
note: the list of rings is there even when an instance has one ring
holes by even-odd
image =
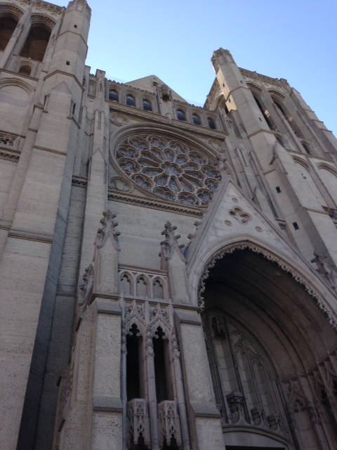
[[[209,203],[221,179],[209,158],[158,136],[126,139],[117,148],[117,162],[142,188],[186,205]]]

